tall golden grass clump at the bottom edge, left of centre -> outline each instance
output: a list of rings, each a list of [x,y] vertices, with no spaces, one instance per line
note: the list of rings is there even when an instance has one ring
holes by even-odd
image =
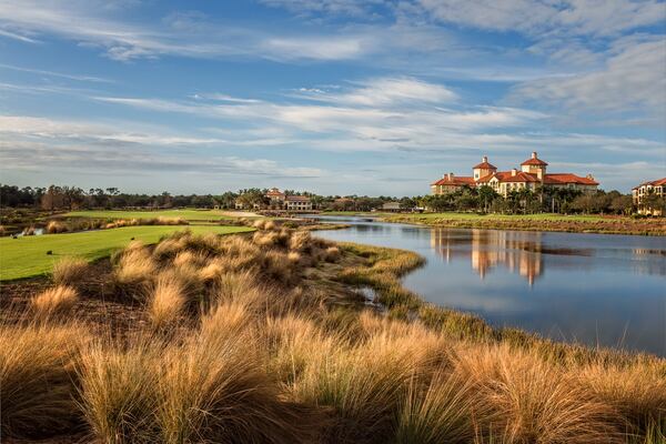
[[[240,316],[240,317],[239,317]],[[209,319],[201,333],[165,356],[157,422],[165,443],[301,443],[316,433],[307,412],[280,400],[239,331],[236,309]]]

